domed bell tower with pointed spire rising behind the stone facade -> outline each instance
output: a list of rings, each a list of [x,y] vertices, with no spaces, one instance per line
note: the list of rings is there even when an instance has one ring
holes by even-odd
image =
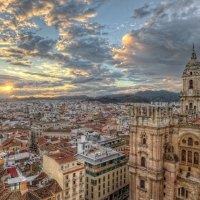
[[[200,113],[200,62],[193,45],[191,60],[183,72],[183,89],[180,93],[181,114],[195,119]],[[191,119],[192,120],[192,119]]]

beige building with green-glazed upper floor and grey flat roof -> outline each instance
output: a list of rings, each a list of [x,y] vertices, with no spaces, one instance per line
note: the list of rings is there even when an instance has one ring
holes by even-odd
[[[123,152],[92,145],[84,140],[78,144],[77,159],[86,164],[86,200],[125,200],[128,198],[129,175]]]

